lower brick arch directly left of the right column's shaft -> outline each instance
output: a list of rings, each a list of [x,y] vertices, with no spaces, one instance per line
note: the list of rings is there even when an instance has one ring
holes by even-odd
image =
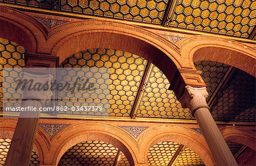
[[[204,137],[197,132],[180,126],[163,125],[145,130],[138,138],[144,162],[147,162],[148,149],[156,143],[172,141],[183,144],[195,151],[205,165],[214,165],[215,161]]]

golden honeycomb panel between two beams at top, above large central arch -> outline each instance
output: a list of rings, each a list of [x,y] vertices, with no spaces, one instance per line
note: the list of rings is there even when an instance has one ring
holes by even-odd
[[[61,0],[61,10],[160,24],[168,0]]]

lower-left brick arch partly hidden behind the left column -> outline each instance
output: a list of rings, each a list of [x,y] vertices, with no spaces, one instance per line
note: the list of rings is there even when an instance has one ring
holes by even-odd
[[[17,121],[11,119],[3,119],[0,123],[0,138],[12,139],[15,131]],[[42,129],[41,129],[42,130]],[[35,143],[33,149],[37,153],[40,165],[43,164],[44,154],[47,153],[46,147],[47,140],[44,135],[40,134],[40,129],[38,128],[38,133],[35,136]],[[48,144],[49,145],[49,144]]]

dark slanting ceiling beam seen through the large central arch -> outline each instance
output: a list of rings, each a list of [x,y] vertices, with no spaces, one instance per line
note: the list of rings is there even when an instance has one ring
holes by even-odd
[[[151,66],[151,63],[147,62],[146,68],[145,68],[143,76],[141,78],[141,82],[139,84],[139,88],[138,88],[136,97],[135,97],[134,102],[133,102],[133,107],[131,107],[131,113],[130,113],[130,118],[131,119],[136,118],[137,110],[138,110],[137,107],[138,107],[139,103],[141,102],[141,97],[142,97],[141,93],[142,93],[142,90],[143,90],[143,86],[145,85],[145,81],[146,81],[146,78],[148,77],[148,74],[151,73],[151,72],[148,72],[150,70],[150,66]]]

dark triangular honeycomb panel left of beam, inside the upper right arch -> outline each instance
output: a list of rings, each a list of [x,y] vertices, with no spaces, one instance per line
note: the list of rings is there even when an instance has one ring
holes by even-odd
[[[230,68],[229,65],[207,60],[196,62],[195,67],[197,70],[202,71],[201,76],[207,85],[209,96],[212,96],[217,86],[220,84],[220,81]]]

